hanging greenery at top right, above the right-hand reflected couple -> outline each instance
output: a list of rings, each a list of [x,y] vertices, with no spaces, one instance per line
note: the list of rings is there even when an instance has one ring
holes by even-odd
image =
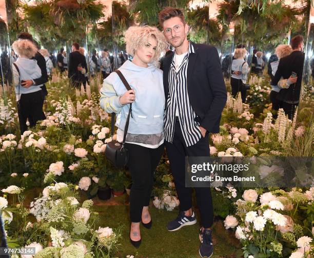
[[[253,45],[274,48],[283,44],[283,38],[289,31],[299,31],[304,24],[300,21],[304,8],[292,8],[282,3],[267,4],[263,13],[257,8],[247,8],[238,14],[240,0],[225,0],[219,5],[218,21],[222,24],[235,25],[234,44]]]

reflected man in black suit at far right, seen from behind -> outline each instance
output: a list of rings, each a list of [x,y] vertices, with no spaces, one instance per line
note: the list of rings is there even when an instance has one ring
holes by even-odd
[[[271,85],[277,85],[281,77],[288,79],[290,76],[293,77],[293,74],[296,74],[298,78],[297,83],[290,85],[287,89],[281,89],[277,94],[277,100],[280,101],[279,108],[283,108],[289,119],[292,119],[296,106],[299,105],[301,91],[304,65],[304,53],[302,52],[303,36],[297,35],[293,37],[290,45],[292,53],[280,59],[276,74],[271,80]]]

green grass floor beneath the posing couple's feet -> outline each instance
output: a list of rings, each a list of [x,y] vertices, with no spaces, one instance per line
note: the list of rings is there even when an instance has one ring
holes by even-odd
[[[151,229],[146,229],[141,225],[142,244],[140,248],[134,248],[129,241],[129,207],[125,205],[126,196],[115,197],[115,205],[94,206],[94,210],[99,212],[100,226],[115,228],[123,225],[122,240],[119,251],[115,256],[126,257],[134,255],[138,257],[200,257],[199,255],[199,223],[193,226],[186,226],[174,232],[169,232],[166,225],[178,215],[178,210],[173,211],[158,210],[154,206],[150,207],[150,214],[153,225]],[[221,222],[215,222],[213,232],[214,255],[218,257],[241,257],[241,250],[234,233],[224,229]],[[238,248],[236,247],[238,246]]]

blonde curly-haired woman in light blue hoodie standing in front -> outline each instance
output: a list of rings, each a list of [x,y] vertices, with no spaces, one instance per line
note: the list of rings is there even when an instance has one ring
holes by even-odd
[[[117,141],[123,141],[124,127],[132,103],[132,117],[126,137],[129,150],[128,167],[132,176],[130,192],[130,241],[133,246],[141,244],[140,222],[152,225],[148,206],[153,186],[153,173],[164,151],[165,95],[163,72],[156,68],[161,53],[166,50],[166,39],[157,28],[130,27],[125,33],[127,53],[133,56],[119,70],[131,90],[127,91],[117,73],[104,80],[100,104],[110,113],[119,114],[116,126]]]

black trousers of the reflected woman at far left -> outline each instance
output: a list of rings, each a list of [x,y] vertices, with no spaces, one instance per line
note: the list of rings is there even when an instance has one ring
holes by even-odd
[[[46,116],[43,112],[44,100],[45,96],[42,90],[21,94],[21,97],[19,98],[19,104],[17,105],[19,128],[21,129],[21,134],[27,131],[27,119],[29,121],[30,127],[35,126],[37,121],[46,119]]]

